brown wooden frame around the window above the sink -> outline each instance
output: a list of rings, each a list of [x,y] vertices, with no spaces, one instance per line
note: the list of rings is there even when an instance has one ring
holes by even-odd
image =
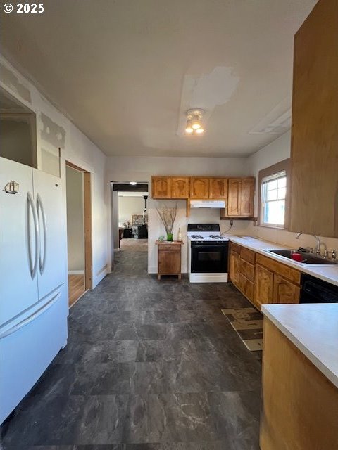
[[[287,193],[285,195],[285,217],[284,225],[279,224],[267,224],[263,222],[263,199],[262,199],[262,184],[263,179],[268,178],[268,176],[277,175],[280,172],[285,172],[286,176],[286,189]],[[290,158],[277,162],[270,167],[266,167],[258,172],[258,226],[263,226],[265,228],[281,229],[286,230],[289,226],[289,207],[290,207],[290,193],[289,193],[290,183]]]

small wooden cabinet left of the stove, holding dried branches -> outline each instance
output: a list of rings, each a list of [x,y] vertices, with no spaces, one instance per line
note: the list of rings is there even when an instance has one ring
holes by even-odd
[[[181,279],[181,246],[182,240],[156,240],[158,245],[158,271],[157,279],[161,275],[177,275]]]

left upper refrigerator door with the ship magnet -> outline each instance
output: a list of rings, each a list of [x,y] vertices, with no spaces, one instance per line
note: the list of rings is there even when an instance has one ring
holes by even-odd
[[[37,302],[36,219],[32,167],[0,158],[0,326]]]

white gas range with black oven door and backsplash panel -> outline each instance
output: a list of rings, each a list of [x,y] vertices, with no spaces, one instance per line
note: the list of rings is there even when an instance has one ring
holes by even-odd
[[[190,283],[227,283],[229,239],[219,224],[188,224]]]

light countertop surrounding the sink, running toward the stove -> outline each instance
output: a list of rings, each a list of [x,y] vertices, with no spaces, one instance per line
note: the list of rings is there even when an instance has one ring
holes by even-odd
[[[251,236],[226,236],[229,238],[230,242],[242,245],[243,247],[249,248],[254,252],[261,253],[271,259],[286,264],[287,266],[294,267],[304,274],[309,274],[320,278],[321,280],[327,281],[338,286],[338,264],[334,266],[316,266],[312,264],[302,264],[301,262],[294,261],[293,259],[288,259],[280,255],[275,255],[273,253],[267,252],[267,250],[282,250],[286,247],[285,245],[275,244],[268,240],[261,240],[260,238],[253,238]]]

